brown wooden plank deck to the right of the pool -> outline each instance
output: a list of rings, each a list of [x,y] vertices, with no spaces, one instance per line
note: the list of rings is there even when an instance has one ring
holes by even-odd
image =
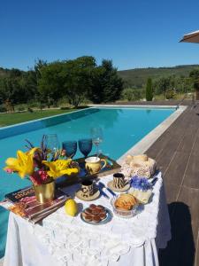
[[[147,152],[163,172],[172,223],[160,266],[199,265],[199,104],[187,104]]]

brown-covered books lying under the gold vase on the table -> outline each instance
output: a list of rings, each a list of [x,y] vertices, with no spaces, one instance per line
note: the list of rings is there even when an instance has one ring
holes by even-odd
[[[55,199],[45,203],[36,201],[33,187],[26,187],[16,192],[5,195],[5,200],[0,201],[0,206],[21,216],[30,223],[40,222],[57,208],[62,207],[70,197],[60,190],[55,191]]]

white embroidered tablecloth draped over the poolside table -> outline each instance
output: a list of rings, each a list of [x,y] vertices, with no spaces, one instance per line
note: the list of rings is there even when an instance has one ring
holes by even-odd
[[[171,239],[171,228],[161,173],[157,177],[152,200],[130,219],[114,215],[109,223],[90,225],[80,215],[65,215],[61,207],[42,224],[33,225],[11,213],[4,266],[158,265],[157,250]],[[106,184],[111,178],[102,181]],[[73,194],[76,189],[66,191]],[[79,207],[90,204],[75,200]],[[111,209],[110,200],[102,196],[92,202]]]

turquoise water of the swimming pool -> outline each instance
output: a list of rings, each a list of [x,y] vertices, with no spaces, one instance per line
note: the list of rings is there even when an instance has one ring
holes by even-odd
[[[100,149],[111,158],[119,159],[173,112],[174,108],[89,108],[0,129],[0,200],[4,194],[28,184],[27,180],[2,170],[7,157],[15,157],[18,149],[26,150],[25,139],[39,145],[43,134],[57,133],[60,142],[78,140],[89,137],[90,128],[100,126],[103,128]],[[76,157],[80,156],[78,152]],[[0,207],[0,257],[4,255],[7,219],[8,212]]]

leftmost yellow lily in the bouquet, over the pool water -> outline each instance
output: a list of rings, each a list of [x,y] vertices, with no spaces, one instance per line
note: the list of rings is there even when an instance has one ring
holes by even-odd
[[[7,166],[4,168],[5,171],[17,172],[21,178],[25,176],[31,176],[34,172],[34,152],[37,148],[31,149],[27,153],[22,151],[17,152],[17,158],[8,158],[5,160]]]

